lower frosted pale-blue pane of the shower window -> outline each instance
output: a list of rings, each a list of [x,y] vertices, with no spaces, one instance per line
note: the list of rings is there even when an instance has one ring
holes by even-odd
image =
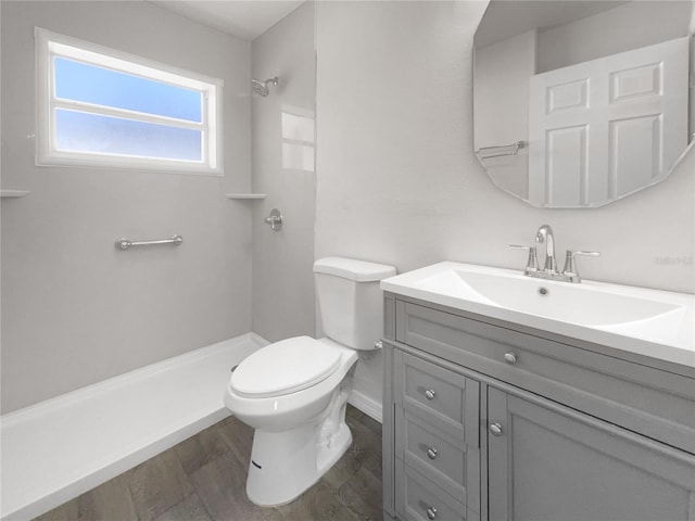
[[[200,130],[55,111],[55,147],[62,151],[200,162],[201,143]]]

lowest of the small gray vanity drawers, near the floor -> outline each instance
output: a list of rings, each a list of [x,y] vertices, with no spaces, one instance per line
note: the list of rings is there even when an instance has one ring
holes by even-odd
[[[395,509],[404,521],[478,521],[477,512],[450,496],[409,466],[396,459],[396,474],[402,483],[396,486]]]

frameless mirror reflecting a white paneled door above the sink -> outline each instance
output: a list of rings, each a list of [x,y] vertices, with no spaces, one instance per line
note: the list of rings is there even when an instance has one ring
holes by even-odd
[[[473,147],[492,181],[577,208],[668,177],[695,131],[694,26],[687,0],[491,0],[473,42]]]

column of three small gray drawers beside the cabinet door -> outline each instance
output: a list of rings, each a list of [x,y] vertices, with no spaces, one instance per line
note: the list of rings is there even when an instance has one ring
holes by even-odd
[[[395,469],[402,519],[478,519],[480,382],[395,353]]]

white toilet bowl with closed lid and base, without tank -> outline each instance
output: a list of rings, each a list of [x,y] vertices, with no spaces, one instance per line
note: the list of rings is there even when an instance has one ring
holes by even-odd
[[[265,350],[273,353],[263,353]],[[334,355],[334,359],[320,360],[311,374],[313,381],[307,378],[309,372],[304,371],[296,379],[281,379],[281,383],[267,385],[262,391],[264,385],[251,380],[253,370],[256,364],[269,361],[263,355],[279,354],[282,350],[298,355],[304,353],[307,358],[301,359],[305,360],[326,352]],[[254,360],[255,355],[262,356]],[[346,377],[357,361],[357,353],[329,339],[298,336],[270,344],[244,361],[252,365],[242,367],[242,364],[237,368],[229,380],[225,405],[255,429],[247,495],[256,505],[282,505],[312,486],[352,443],[350,429],[344,423],[352,390],[351,379]],[[266,368],[264,374],[277,370],[285,377],[292,376],[292,366],[283,367],[285,357],[271,361],[275,364]],[[309,381],[311,385],[306,385]]]

